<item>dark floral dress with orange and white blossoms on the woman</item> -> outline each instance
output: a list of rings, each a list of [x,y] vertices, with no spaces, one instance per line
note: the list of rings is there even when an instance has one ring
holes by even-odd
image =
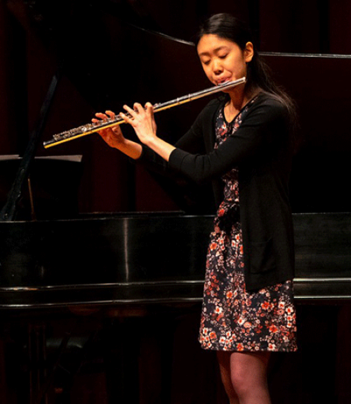
[[[216,145],[235,136],[246,111],[230,124],[223,110],[216,120]],[[216,351],[296,351],[296,310],[293,283],[246,291],[238,171],[223,176],[224,199],[214,220],[206,259],[204,301],[199,342]]]

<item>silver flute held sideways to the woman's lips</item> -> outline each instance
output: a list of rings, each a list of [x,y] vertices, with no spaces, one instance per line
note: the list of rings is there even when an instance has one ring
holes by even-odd
[[[154,106],[153,106],[154,112],[164,111],[165,109],[172,108],[173,106],[178,106],[183,103],[194,101],[201,97],[215,94],[215,93],[217,93],[219,91],[223,91],[225,89],[230,89],[230,88],[235,87],[244,82],[246,82],[246,78],[241,77],[238,80],[234,80],[232,82],[224,82],[223,84],[218,84],[218,86],[214,86],[209,89],[197,91],[192,94],[187,94],[186,96],[182,96],[177,99],[173,99],[171,101],[166,101],[165,103],[157,103],[157,104],[154,104]],[[126,113],[126,115],[128,116],[127,113]],[[53,139],[44,141],[43,145],[44,145],[45,149],[48,149],[49,147],[64,143],[65,141],[78,139],[79,137],[86,136],[87,134],[91,134],[94,132],[98,132],[99,130],[106,129],[107,127],[121,125],[121,123],[125,123],[125,120],[123,118],[121,118],[120,115],[116,115],[114,118],[108,118],[106,120],[101,120],[99,122],[88,123],[87,125],[81,125],[79,127],[75,127],[74,129],[66,130],[65,132],[54,134]]]

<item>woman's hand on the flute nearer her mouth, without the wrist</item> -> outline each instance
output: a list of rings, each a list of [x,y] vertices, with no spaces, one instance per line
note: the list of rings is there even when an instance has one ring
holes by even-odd
[[[120,113],[119,115],[121,115],[121,118],[123,118],[126,123],[133,127],[135,133],[143,144],[147,144],[157,137],[157,126],[154,120],[154,107],[151,103],[146,103],[145,108],[140,103],[135,103],[134,109],[128,106],[124,106],[123,108],[129,116],[125,113]]]

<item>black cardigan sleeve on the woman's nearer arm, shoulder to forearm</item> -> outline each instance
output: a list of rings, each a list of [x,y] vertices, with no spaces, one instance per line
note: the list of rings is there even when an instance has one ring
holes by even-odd
[[[265,99],[253,103],[239,129],[217,149],[200,155],[177,148],[172,151],[168,165],[198,183],[224,175],[267,151],[265,146],[274,141],[272,138],[277,127],[282,127],[284,117],[285,108],[279,101]]]

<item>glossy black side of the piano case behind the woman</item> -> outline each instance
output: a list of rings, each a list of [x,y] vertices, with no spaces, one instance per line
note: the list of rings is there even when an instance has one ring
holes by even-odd
[[[296,300],[351,298],[351,213],[296,213]],[[211,215],[0,222],[2,310],[201,303]]]

